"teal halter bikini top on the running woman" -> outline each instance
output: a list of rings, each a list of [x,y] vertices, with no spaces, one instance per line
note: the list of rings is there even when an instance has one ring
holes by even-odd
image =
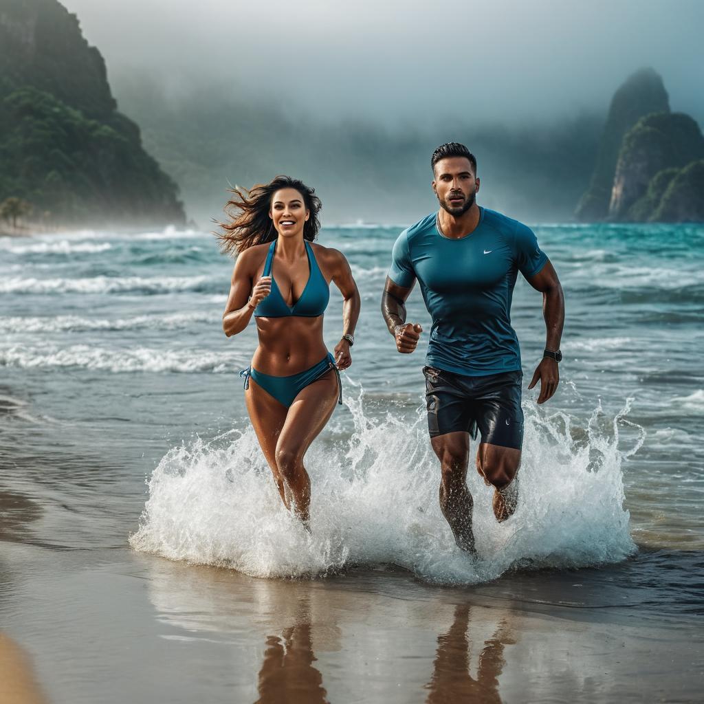
[[[313,248],[308,244],[308,241],[303,240],[303,244],[306,245],[308,271],[310,272],[308,275],[308,283],[294,306],[288,306],[271,272],[276,243],[277,240],[275,239],[269,246],[269,253],[262,272],[262,276],[271,277],[271,292],[254,310],[255,317],[289,318],[296,315],[301,318],[318,318],[318,315],[322,315],[325,312],[325,308],[327,308],[327,303],[330,300],[330,289],[329,284],[325,281],[325,277],[320,271],[318,262],[315,260]]]

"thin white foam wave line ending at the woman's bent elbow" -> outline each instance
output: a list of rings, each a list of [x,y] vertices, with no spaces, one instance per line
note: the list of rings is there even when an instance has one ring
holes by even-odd
[[[169,315],[135,315],[133,318],[82,318],[79,315],[46,317],[18,316],[0,318],[0,332],[88,332],[90,330],[177,330],[188,329],[199,323],[216,325],[218,313],[171,313]]]

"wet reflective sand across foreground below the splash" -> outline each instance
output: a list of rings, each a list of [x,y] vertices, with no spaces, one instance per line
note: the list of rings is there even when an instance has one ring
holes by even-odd
[[[121,548],[2,555],[5,636],[57,703],[700,700],[703,604],[623,603],[604,570],[633,565],[439,588],[389,566],[293,581]]]

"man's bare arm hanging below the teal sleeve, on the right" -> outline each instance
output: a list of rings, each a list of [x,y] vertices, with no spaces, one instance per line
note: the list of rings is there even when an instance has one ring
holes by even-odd
[[[549,260],[535,276],[528,279],[528,283],[536,291],[541,291],[543,294],[543,318],[545,318],[546,326],[545,346],[547,349],[556,351],[560,349],[562,325],[565,322],[565,296],[562,293],[558,275]],[[538,403],[544,403],[558,389],[560,383],[558,363],[554,359],[543,357],[528,388],[532,389],[538,379],[540,379]]]

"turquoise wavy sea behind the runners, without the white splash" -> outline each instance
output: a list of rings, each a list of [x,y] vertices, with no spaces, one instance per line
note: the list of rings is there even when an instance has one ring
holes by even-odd
[[[524,389],[533,428],[528,442],[534,446],[524,466],[538,462],[543,444],[556,444],[572,463],[591,422],[593,434],[601,433],[608,446],[608,462],[622,476],[636,545],[700,549],[703,227],[536,225],[535,230],[562,280],[567,318],[558,395],[537,408],[535,392]],[[320,236],[346,253],[363,298],[346,383],[346,397],[357,399],[360,408],[335,415],[321,438],[331,447],[372,422],[382,424],[377,432],[383,434],[379,428],[391,413],[389,422],[401,422],[413,435],[408,442],[425,452],[422,419],[418,422],[424,346],[413,356],[396,354],[378,310],[397,233],[398,227],[348,226],[325,229]],[[97,482],[125,491],[128,503],[108,507],[115,520],[130,516],[111,533],[120,542],[136,529],[142,478],[170,448],[188,445],[196,435],[209,440],[245,429],[236,372],[248,365],[256,336],[253,326],[230,340],[220,330],[231,267],[214,238],[201,232],[1,239],[5,413],[0,451],[4,463],[28,465],[27,475],[13,480],[32,482],[36,474],[50,481],[46,465],[57,453],[70,457],[77,478],[93,467]],[[540,306],[541,296],[520,279],[512,314],[524,385],[543,346]],[[417,291],[409,315],[428,329]],[[340,321],[341,299],[333,291],[325,322],[331,348]],[[613,421],[627,404],[614,444]],[[590,461],[597,465],[603,454],[599,442],[589,441]],[[227,441],[220,446],[227,448]],[[638,451],[624,458],[636,446]],[[339,457],[339,448],[331,453]],[[432,458],[427,463],[432,472]],[[337,472],[344,475],[351,465],[342,464]],[[109,479],[97,470],[105,466]],[[407,470],[399,467],[399,476]],[[618,490],[608,484],[607,493]],[[65,537],[67,543],[82,539]],[[618,550],[626,550],[626,543]]]

